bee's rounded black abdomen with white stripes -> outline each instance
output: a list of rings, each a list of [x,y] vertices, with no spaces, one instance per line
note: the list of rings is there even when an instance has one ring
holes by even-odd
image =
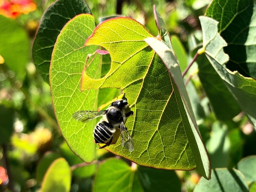
[[[106,121],[97,124],[93,131],[95,143],[105,143],[105,141],[112,137],[113,133],[110,129],[113,128]]]

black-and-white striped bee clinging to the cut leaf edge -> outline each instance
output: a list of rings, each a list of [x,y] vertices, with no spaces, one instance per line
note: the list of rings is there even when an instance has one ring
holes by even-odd
[[[125,95],[122,99],[117,99],[103,111],[77,111],[72,117],[83,123],[86,123],[97,117],[101,117],[93,130],[95,143],[104,143],[100,147],[102,149],[111,144],[115,144],[121,134],[121,144],[130,152],[133,151],[133,140],[127,128],[125,127],[126,120],[133,115],[133,111],[129,108]]]

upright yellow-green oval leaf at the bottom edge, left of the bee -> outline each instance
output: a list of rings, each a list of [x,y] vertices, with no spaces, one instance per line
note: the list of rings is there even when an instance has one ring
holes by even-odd
[[[71,170],[64,158],[52,162],[44,176],[42,192],[69,192],[71,186]]]

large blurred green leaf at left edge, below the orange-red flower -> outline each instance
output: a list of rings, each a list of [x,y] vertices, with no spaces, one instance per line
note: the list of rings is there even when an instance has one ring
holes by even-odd
[[[0,15],[0,55],[6,65],[23,80],[30,60],[30,42],[26,31],[15,21]]]

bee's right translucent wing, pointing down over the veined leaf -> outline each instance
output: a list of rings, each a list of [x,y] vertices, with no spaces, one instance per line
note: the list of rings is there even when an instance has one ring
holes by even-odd
[[[133,140],[129,132],[127,131],[127,128],[124,125],[124,122],[122,121],[120,124],[120,131],[121,131],[121,144],[124,148],[128,149],[130,152],[133,151],[134,145]]]

